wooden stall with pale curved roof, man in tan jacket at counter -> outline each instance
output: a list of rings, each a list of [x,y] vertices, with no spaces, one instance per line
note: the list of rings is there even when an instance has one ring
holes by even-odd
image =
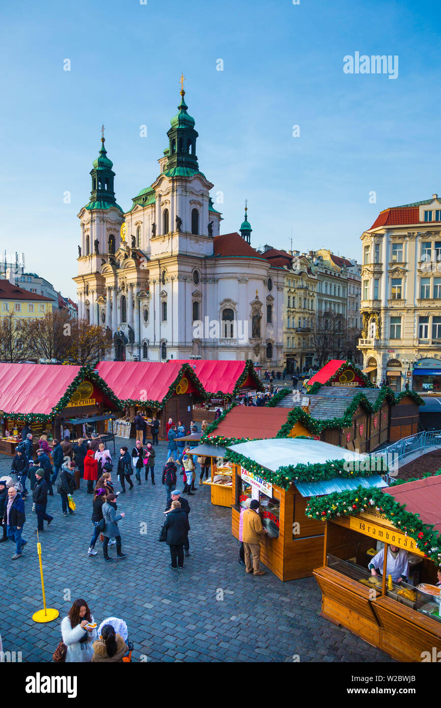
[[[323,524],[305,516],[311,496],[386,484],[376,472],[357,471],[364,456],[312,438],[251,440],[227,445],[227,450],[232,464],[231,531],[239,538],[241,508],[247,498],[258,499],[268,531],[260,557],[282,581],[311,576],[323,558]]]

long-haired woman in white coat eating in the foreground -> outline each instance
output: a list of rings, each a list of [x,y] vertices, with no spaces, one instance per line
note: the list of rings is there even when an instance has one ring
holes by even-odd
[[[93,615],[86,600],[79,598],[62,620],[62,639],[67,646],[66,661],[86,663],[93,656],[93,641],[97,638]]]

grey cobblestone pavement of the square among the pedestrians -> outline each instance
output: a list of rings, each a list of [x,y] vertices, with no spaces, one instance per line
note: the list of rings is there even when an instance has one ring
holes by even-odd
[[[133,440],[117,442],[117,454],[120,444],[133,447]],[[59,496],[50,497],[48,511],[55,519],[40,539],[47,607],[56,607],[60,617],[48,624],[32,619],[42,607],[42,593],[37,520],[28,496],[23,556],[12,561],[13,543],[0,544],[4,651],[21,651],[22,661],[51,661],[60,620],[73,600],[85,598],[98,623],[110,615],[125,619],[134,661],[292,662],[294,655],[299,661],[391,661],[319,617],[321,593],[314,578],[282,583],[270,572],[248,576],[237,562],[231,511],[212,506],[209,486],[197,484],[195,496],[188,497],[191,555],[183,571],[173,571],[168,547],[156,540],[166,504],[166,444],[156,450],[156,485],[142,479],[137,486],[134,480],[135,488],[118,498],[118,509],[126,513],[119,526],[127,559],[105,564],[99,541],[98,555],[87,556],[92,497],[84,481],[74,494],[74,516],[64,518]],[[10,465],[11,457],[0,455],[0,474]],[[110,553],[115,557],[115,547]]]

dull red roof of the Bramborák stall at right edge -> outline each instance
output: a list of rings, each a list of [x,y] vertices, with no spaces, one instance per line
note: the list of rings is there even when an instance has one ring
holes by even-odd
[[[406,511],[418,514],[425,524],[433,524],[435,531],[441,531],[441,476],[416,479],[383,489],[399,504],[406,504]]]

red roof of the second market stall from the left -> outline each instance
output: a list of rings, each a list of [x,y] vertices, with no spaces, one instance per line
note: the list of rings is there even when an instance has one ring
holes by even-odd
[[[184,375],[195,387],[197,379],[192,369],[182,361],[101,361],[96,367],[101,378],[122,401],[156,401],[162,404],[173,394],[173,384]],[[177,380],[176,380],[177,379]]]

